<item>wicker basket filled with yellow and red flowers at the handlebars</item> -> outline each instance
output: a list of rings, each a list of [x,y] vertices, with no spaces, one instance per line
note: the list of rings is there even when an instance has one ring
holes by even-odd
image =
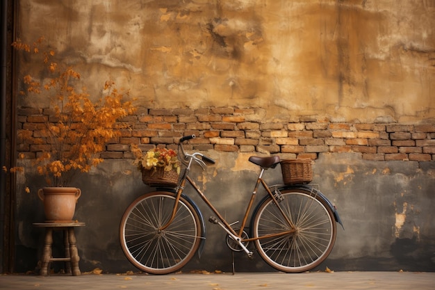
[[[154,148],[146,154],[135,150],[136,163],[142,171],[142,181],[149,186],[177,186],[181,164],[172,149]]]

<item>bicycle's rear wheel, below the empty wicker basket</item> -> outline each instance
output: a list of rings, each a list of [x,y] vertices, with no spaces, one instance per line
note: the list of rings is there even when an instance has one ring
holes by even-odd
[[[256,248],[270,266],[286,273],[309,271],[324,261],[336,239],[334,214],[325,202],[311,191],[291,188],[281,191],[279,207],[266,199],[254,216],[254,238],[295,229],[292,234],[257,239]]]

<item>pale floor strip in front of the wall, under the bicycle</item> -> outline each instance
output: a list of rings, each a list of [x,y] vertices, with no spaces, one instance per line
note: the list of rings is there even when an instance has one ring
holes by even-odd
[[[0,275],[0,289],[383,289],[434,290],[435,273],[411,272],[315,272],[284,273],[195,273],[170,275]]]

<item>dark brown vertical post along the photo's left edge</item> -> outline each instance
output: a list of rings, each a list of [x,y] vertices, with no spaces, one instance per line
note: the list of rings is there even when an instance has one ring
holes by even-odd
[[[14,62],[10,43],[15,35],[17,1],[0,4],[0,167],[15,166]],[[0,273],[12,273],[15,256],[15,176],[0,171]]]

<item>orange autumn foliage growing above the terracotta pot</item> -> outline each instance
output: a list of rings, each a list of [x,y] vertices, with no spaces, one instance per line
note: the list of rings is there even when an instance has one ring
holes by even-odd
[[[29,54],[39,54],[43,38],[26,45],[20,40],[13,47]],[[120,92],[112,80],[104,83],[101,96],[92,102],[84,86],[80,86],[81,76],[72,67],[63,67],[51,62],[54,51],[43,53],[43,63],[49,77],[43,83],[30,75],[23,78],[26,94],[44,94],[51,100],[45,127],[35,136],[34,131],[21,129],[19,140],[28,144],[45,145],[33,161],[38,173],[44,175],[50,186],[65,186],[76,172],[89,172],[104,159],[99,153],[105,150],[106,143],[120,136],[120,129],[128,124],[119,120],[136,111],[131,102],[124,101],[129,92]]]

